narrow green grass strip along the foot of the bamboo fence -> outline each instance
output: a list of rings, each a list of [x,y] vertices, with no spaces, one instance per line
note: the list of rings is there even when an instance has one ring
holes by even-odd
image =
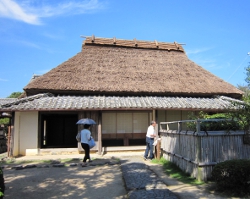
[[[180,182],[189,185],[202,185],[205,184],[203,181],[198,181],[195,178],[191,177],[188,173],[183,172],[176,164],[164,159],[163,157],[160,160],[153,159],[152,163],[161,164],[163,166],[164,172],[171,178],[175,178]]]

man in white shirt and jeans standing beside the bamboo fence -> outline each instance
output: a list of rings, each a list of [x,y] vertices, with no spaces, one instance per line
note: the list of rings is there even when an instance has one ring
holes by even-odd
[[[144,160],[147,160],[148,158],[152,160],[154,158],[153,154],[153,143],[154,143],[154,138],[156,137],[155,133],[155,126],[156,126],[156,121],[152,121],[150,123],[150,126],[148,127],[147,134],[146,134],[146,150],[144,153]],[[148,157],[148,153],[149,157]]]

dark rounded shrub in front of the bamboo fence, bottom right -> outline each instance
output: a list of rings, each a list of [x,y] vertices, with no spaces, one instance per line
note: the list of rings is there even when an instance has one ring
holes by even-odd
[[[237,194],[250,193],[250,160],[227,160],[215,165],[212,179],[217,188]]]

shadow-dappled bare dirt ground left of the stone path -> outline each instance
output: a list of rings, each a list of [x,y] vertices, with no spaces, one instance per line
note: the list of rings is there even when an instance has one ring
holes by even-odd
[[[5,168],[5,197],[10,199],[123,199],[119,165]]]

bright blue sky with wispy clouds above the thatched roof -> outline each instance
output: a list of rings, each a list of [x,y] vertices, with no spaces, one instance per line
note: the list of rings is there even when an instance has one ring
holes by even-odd
[[[0,0],[0,98],[76,55],[81,35],[93,34],[183,43],[189,59],[246,85],[249,13],[249,0]]]

